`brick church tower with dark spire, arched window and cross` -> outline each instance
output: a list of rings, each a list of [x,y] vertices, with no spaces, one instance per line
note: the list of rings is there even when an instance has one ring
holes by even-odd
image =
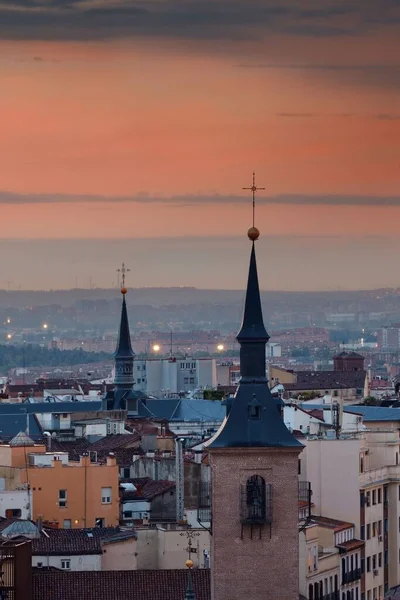
[[[253,209],[254,192],[253,180]],[[254,215],[254,213],[253,213]],[[265,369],[265,329],[255,241],[237,335],[236,395],[209,441],[212,480],[211,600],[298,600],[298,455]]]

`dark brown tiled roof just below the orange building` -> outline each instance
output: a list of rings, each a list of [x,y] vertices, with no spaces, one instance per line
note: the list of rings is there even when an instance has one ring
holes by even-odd
[[[101,541],[120,533],[119,527],[93,529],[45,529],[39,539],[32,541],[32,554],[69,555],[101,554]]]

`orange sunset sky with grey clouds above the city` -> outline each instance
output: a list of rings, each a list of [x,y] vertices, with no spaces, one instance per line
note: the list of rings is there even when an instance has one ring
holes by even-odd
[[[0,287],[397,286],[398,0],[2,0]]]

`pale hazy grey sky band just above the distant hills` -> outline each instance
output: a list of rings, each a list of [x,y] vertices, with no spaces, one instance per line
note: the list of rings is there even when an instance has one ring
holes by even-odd
[[[245,235],[105,241],[2,239],[0,288],[113,288],[117,268],[124,261],[131,269],[130,287],[240,290],[246,284],[249,253]],[[264,235],[257,242],[260,287],[266,291],[399,287],[397,269],[392,268],[399,253],[397,237]]]

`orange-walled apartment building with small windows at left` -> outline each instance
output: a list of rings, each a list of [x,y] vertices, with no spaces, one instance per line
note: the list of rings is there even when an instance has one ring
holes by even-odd
[[[46,452],[21,432],[0,445],[0,474],[4,487],[12,482],[28,490],[30,517],[64,528],[113,527],[119,522],[119,469],[114,456],[105,464],[81,456],[70,461],[67,452]],[[6,484],[7,482],[7,484]],[[15,489],[15,487],[14,487]]]

